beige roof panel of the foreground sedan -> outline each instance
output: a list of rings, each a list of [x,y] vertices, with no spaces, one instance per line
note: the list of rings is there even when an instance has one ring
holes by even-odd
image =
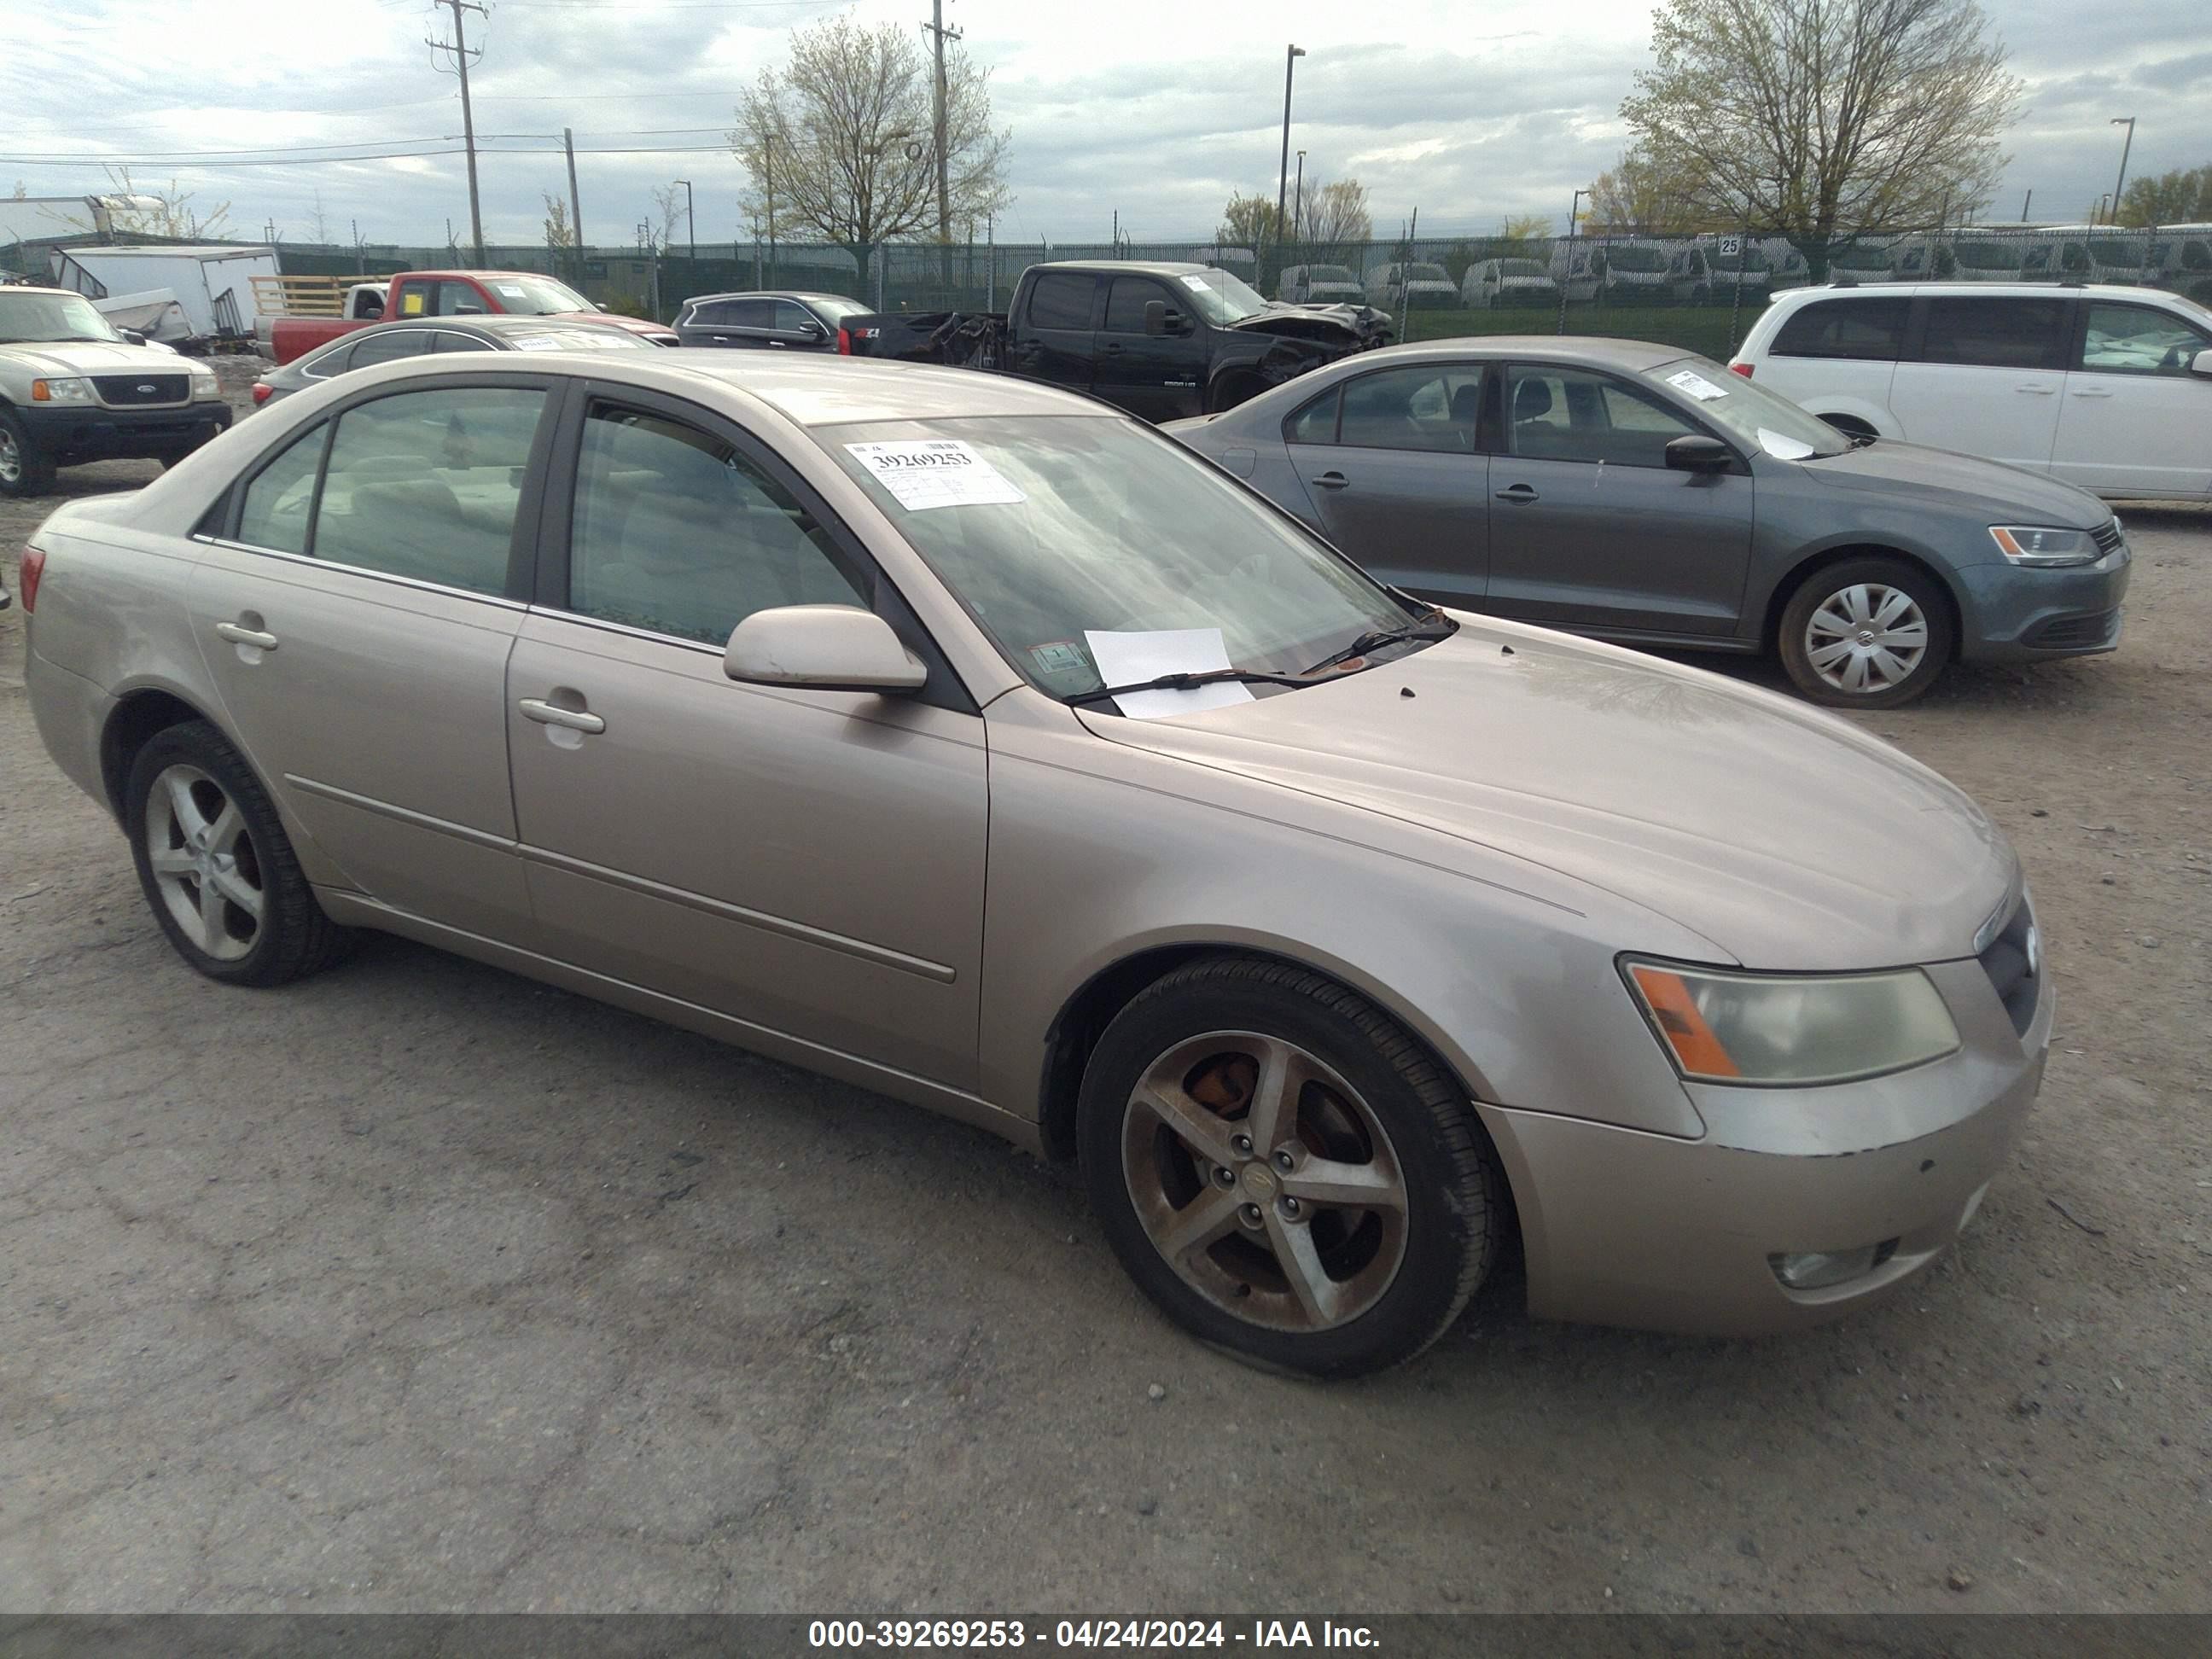
[[[799,427],[969,416],[1128,420],[1113,405],[1011,374],[827,354],[728,352],[699,345],[675,345],[657,352],[562,352],[557,356],[551,352],[473,358],[425,356],[358,369],[345,380],[358,387],[449,374],[575,374],[692,398],[701,389],[719,385],[759,398]]]

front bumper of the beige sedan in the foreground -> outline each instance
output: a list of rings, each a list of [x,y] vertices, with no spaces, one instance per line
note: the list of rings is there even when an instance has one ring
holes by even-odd
[[[1528,1312],[1761,1336],[1840,1318],[1924,1272],[2004,1168],[2042,1086],[2053,1013],[2044,984],[2015,1031],[1973,958],[1927,973],[1958,1022],[1958,1053],[1820,1088],[1692,1084],[1697,1141],[1478,1106],[1520,1210]],[[1865,1245],[1889,1254],[1825,1290],[1790,1290],[1772,1265]]]

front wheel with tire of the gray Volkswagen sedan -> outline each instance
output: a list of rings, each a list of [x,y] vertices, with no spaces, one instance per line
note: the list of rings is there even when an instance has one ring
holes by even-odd
[[[1951,606],[1902,560],[1814,571],[1783,608],[1774,648],[1792,684],[1829,708],[1909,703],[1951,661]]]

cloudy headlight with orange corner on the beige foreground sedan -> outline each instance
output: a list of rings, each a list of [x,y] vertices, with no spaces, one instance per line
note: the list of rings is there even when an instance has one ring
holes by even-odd
[[[1683,1077],[1712,1084],[1843,1084],[1958,1048],[1920,969],[1807,978],[1624,960],[1621,971]]]

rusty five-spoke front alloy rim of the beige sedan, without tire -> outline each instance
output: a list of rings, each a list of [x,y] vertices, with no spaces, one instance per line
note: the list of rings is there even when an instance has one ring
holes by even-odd
[[[1152,1248],[1234,1318],[1323,1332],[1405,1263],[1407,1186],[1374,1108],[1325,1060],[1210,1031],[1144,1068],[1121,1175]]]

